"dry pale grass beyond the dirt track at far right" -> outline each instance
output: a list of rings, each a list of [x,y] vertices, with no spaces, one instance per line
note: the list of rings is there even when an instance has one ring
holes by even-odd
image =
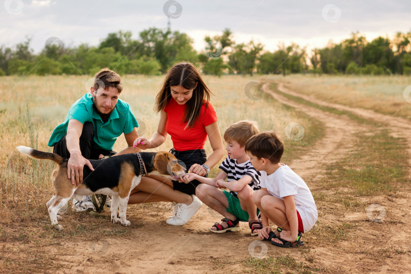
[[[327,102],[411,118],[410,76],[293,75],[285,84]]]

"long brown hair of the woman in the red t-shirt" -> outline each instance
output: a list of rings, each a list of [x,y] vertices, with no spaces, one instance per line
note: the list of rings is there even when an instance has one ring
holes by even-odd
[[[196,84],[197,86],[195,87]],[[207,110],[210,95],[213,93],[205,85],[204,81],[202,81],[200,74],[192,63],[180,62],[173,65],[168,71],[163,87],[156,96],[154,111],[163,111],[170,99],[172,99],[170,88],[172,86],[183,86],[185,89],[195,87],[191,99],[186,102],[187,107],[183,118],[183,122],[187,123],[187,126],[191,128],[200,116],[203,102],[205,102],[205,110]]]

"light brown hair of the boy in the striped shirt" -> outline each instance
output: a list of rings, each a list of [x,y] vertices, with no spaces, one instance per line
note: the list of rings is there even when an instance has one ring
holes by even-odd
[[[247,140],[260,132],[255,121],[243,120],[230,125],[224,132],[224,140],[227,143],[233,140],[241,147],[246,145]]]

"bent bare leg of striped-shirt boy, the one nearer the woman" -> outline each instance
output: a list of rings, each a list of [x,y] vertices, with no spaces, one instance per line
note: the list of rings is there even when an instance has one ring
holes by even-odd
[[[210,208],[217,211],[224,217],[234,221],[237,217],[227,212],[228,209],[228,200],[224,192],[221,189],[207,185],[199,184],[195,189],[195,195]],[[227,224],[222,222],[223,228],[227,228]],[[237,225],[238,226],[238,225]],[[216,230],[216,227],[211,229]]]

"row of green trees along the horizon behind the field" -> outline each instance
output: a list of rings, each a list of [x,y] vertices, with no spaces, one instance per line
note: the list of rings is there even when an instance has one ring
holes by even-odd
[[[83,75],[108,66],[120,74],[157,75],[177,61],[190,61],[205,74],[411,74],[411,32],[394,39],[367,42],[358,32],[339,44],[314,49],[310,56],[297,44],[280,44],[273,52],[260,43],[236,44],[232,32],[204,38],[204,51],[179,31],[149,28],[131,39],[131,32],[110,33],[97,47],[82,44],[67,48],[50,38],[40,54],[33,54],[30,39],[13,48],[0,47],[0,75]],[[309,61],[311,64],[307,63]]]

